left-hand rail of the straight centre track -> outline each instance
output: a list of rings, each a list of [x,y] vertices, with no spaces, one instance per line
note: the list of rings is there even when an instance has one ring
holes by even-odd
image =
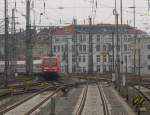
[[[86,102],[87,92],[88,92],[88,83],[86,84],[86,87],[84,89],[83,96],[82,96],[82,99],[81,99],[81,103],[80,103],[75,115],[81,115],[82,114],[82,111],[84,109],[84,105],[85,105],[85,102]]]

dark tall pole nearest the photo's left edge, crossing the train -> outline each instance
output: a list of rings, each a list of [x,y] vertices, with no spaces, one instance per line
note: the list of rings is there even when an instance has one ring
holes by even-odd
[[[5,0],[5,70],[4,70],[4,77],[5,77],[5,87],[8,86],[8,72],[9,72],[9,59],[8,59],[8,26],[9,26],[9,21],[8,21],[8,1]]]

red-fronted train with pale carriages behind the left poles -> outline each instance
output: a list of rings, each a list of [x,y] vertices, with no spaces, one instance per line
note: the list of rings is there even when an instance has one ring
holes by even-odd
[[[46,80],[59,79],[61,72],[61,63],[58,57],[43,56],[33,59],[33,74],[44,77]],[[5,62],[0,61],[0,73],[4,72]],[[16,72],[18,74],[26,73],[25,60],[16,61]]]

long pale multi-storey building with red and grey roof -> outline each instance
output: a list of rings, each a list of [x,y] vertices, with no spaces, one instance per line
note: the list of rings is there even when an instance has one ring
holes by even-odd
[[[115,28],[116,26],[111,24],[71,25],[57,28],[53,33],[52,44],[54,52],[62,61],[62,72],[88,72],[91,61],[94,72],[102,73],[114,70],[117,42],[120,50],[120,70],[133,72],[135,68],[137,71],[138,56],[134,52],[137,51],[134,40],[145,38],[146,33],[128,25],[119,26],[119,41],[116,41]],[[89,39],[92,40],[91,44]],[[92,52],[89,52],[90,45]],[[90,58],[90,53],[92,53],[93,59]],[[141,53],[143,52],[141,51]],[[133,63],[134,61],[135,63]]]

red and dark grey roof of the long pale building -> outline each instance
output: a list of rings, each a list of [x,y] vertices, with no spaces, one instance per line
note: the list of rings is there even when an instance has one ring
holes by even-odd
[[[70,25],[62,28],[56,28],[55,35],[68,35],[73,33],[92,33],[92,34],[111,34],[115,33],[116,26],[114,24],[97,24],[97,25]],[[129,25],[118,25],[119,33],[126,34],[146,34],[146,32],[134,29]]]

